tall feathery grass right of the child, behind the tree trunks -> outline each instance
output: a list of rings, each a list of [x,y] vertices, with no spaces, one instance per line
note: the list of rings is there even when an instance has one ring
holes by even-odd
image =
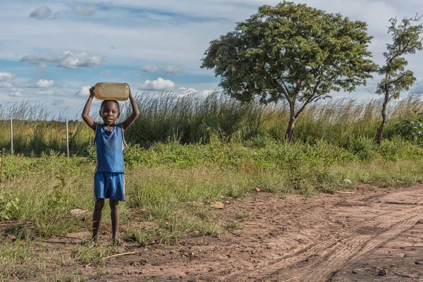
[[[152,97],[143,93],[137,97],[141,116],[129,128],[130,142],[149,146],[154,142],[243,143],[256,137],[270,136],[281,140],[288,125],[288,104],[243,104],[220,92],[204,100],[178,98],[173,94]],[[358,102],[344,98],[309,105],[295,124],[294,142],[329,140],[345,145],[351,136],[374,138],[381,122],[381,103],[376,99]],[[413,113],[423,111],[418,94],[388,107],[388,124],[384,136],[394,135],[393,125]],[[130,114],[129,104],[123,106],[123,116]]]

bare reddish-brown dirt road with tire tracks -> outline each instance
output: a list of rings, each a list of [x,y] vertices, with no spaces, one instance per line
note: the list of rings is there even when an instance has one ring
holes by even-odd
[[[423,281],[423,185],[286,199],[255,192],[214,216],[243,229],[171,246],[128,244],[120,252],[137,253],[107,259],[99,280]],[[80,271],[98,281],[97,266]]]

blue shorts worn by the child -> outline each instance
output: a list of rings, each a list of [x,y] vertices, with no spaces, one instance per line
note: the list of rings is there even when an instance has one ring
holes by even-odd
[[[125,201],[125,178],[123,173],[94,173],[94,199],[111,199]]]

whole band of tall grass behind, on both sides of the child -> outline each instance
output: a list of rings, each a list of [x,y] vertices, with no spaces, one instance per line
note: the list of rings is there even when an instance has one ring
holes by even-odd
[[[151,147],[157,142],[209,144],[212,142],[255,143],[257,140],[282,140],[288,124],[286,103],[244,104],[220,92],[206,99],[177,97],[173,93],[137,96],[140,117],[125,137],[131,144]],[[128,102],[121,106],[121,119],[131,112]],[[327,140],[333,145],[350,146],[352,138],[374,139],[381,122],[381,104],[376,99],[359,102],[344,98],[310,104],[295,123],[293,142],[313,144]],[[423,111],[423,101],[410,94],[388,107],[384,137],[394,136],[394,126],[404,118]],[[13,113],[13,114],[8,114]],[[64,118],[53,116],[44,104],[28,102],[11,106],[0,104],[0,148],[10,148],[9,118],[13,118],[15,152],[40,155],[66,152]],[[82,121],[71,121],[71,154],[87,155],[93,133]]]

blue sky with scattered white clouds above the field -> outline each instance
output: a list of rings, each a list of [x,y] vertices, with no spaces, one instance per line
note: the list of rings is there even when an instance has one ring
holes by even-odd
[[[423,13],[422,0],[303,0],[367,23],[369,50],[384,64],[388,20]],[[133,94],[171,91],[206,97],[220,90],[200,68],[209,42],[234,30],[273,0],[0,0],[0,105],[41,103],[54,115],[79,117],[92,85],[127,82]],[[423,51],[406,56],[423,92]],[[334,99],[377,99],[380,77]],[[407,93],[403,93],[403,96]],[[93,102],[98,107],[99,101]]]

